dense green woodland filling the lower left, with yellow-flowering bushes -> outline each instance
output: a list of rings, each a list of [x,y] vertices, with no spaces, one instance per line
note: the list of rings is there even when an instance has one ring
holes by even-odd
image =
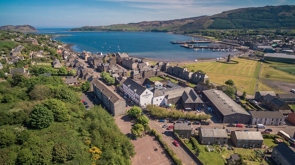
[[[0,164],[128,164],[134,146],[101,106],[58,76],[0,82]]]

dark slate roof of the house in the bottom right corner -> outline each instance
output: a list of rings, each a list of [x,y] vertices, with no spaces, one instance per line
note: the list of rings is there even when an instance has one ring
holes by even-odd
[[[295,152],[285,143],[278,144],[276,147],[273,147],[273,150],[276,150],[288,164],[294,164]]]

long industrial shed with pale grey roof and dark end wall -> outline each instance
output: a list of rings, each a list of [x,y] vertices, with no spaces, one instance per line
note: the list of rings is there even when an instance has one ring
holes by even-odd
[[[251,115],[220,90],[202,91],[205,102],[211,107],[220,123],[249,124]]]

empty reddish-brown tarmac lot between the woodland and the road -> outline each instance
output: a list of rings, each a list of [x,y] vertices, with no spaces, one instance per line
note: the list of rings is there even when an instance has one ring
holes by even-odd
[[[115,120],[123,134],[126,134],[129,137],[131,133],[130,129],[134,124],[130,120],[129,116],[117,116],[115,117]],[[138,138],[138,140],[132,140],[132,143],[135,146],[136,152],[135,157],[131,158],[132,164],[174,164],[155,137],[147,135],[142,138]],[[157,148],[158,151],[155,151],[155,148]]]

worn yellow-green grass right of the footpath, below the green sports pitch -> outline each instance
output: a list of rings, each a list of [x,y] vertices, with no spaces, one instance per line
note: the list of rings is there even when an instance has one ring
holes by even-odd
[[[285,64],[285,63],[275,63],[270,62],[272,64]],[[288,73],[282,72],[280,70],[273,69],[269,67],[271,64],[263,63],[260,78],[266,80],[274,80],[274,81],[283,81],[288,83],[294,83],[295,76],[289,75]]]

